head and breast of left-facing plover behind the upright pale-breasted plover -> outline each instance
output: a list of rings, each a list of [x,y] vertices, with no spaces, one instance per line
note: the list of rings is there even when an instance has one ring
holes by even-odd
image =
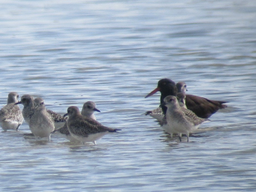
[[[22,95],[19,102],[16,102],[17,104],[23,104],[23,110],[22,115],[26,123],[29,125],[30,117],[34,110],[34,97],[28,94]]]

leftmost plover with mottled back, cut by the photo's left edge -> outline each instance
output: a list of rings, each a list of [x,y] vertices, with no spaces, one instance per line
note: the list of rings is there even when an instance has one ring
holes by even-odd
[[[10,92],[8,94],[7,105],[0,110],[0,126],[4,131],[16,130],[23,122],[22,112],[20,107],[15,105],[18,102],[18,93]]]

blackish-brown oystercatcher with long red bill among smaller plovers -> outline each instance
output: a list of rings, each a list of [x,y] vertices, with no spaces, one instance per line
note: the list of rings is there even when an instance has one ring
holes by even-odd
[[[164,102],[164,98],[168,95],[176,96],[178,93],[177,87],[171,79],[161,79],[158,81],[157,88],[155,88],[152,92],[146,95],[145,98],[153,95],[154,93],[160,91],[160,103]],[[223,109],[227,107],[224,103],[225,101],[216,101],[206,99],[204,97],[199,97],[196,95],[186,94],[186,106],[189,110],[196,113],[198,117],[201,118],[209,118],[212,114],[216,113],[219,109]],[[162,105],[163,114],[166,114],[167,107]]]

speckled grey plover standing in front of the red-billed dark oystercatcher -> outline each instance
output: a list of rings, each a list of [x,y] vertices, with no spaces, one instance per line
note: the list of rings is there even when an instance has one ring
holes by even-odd
[[[181,134],[186,134],[189,141],[189,133],[196,130],[203,122],[209,121],[198,117],[189,109],[180,107],[177,98],[173,95],[165,97],[163,104],[167,107],[165,117],[169,130],[166,131],[170,134],[178,133],[180,141]]]

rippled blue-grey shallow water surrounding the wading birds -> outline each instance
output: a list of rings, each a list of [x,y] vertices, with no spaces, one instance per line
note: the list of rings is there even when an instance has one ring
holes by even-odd
[[[1,1],[1,107],[16,91],[61,114],[95,101],[122,128],[75,146],[0,132],[1,191],[255,191],[256,3]],[[151,117],[161,78],[229,101],[190,142]],[[22,106],[20,106],[22,108]]]

